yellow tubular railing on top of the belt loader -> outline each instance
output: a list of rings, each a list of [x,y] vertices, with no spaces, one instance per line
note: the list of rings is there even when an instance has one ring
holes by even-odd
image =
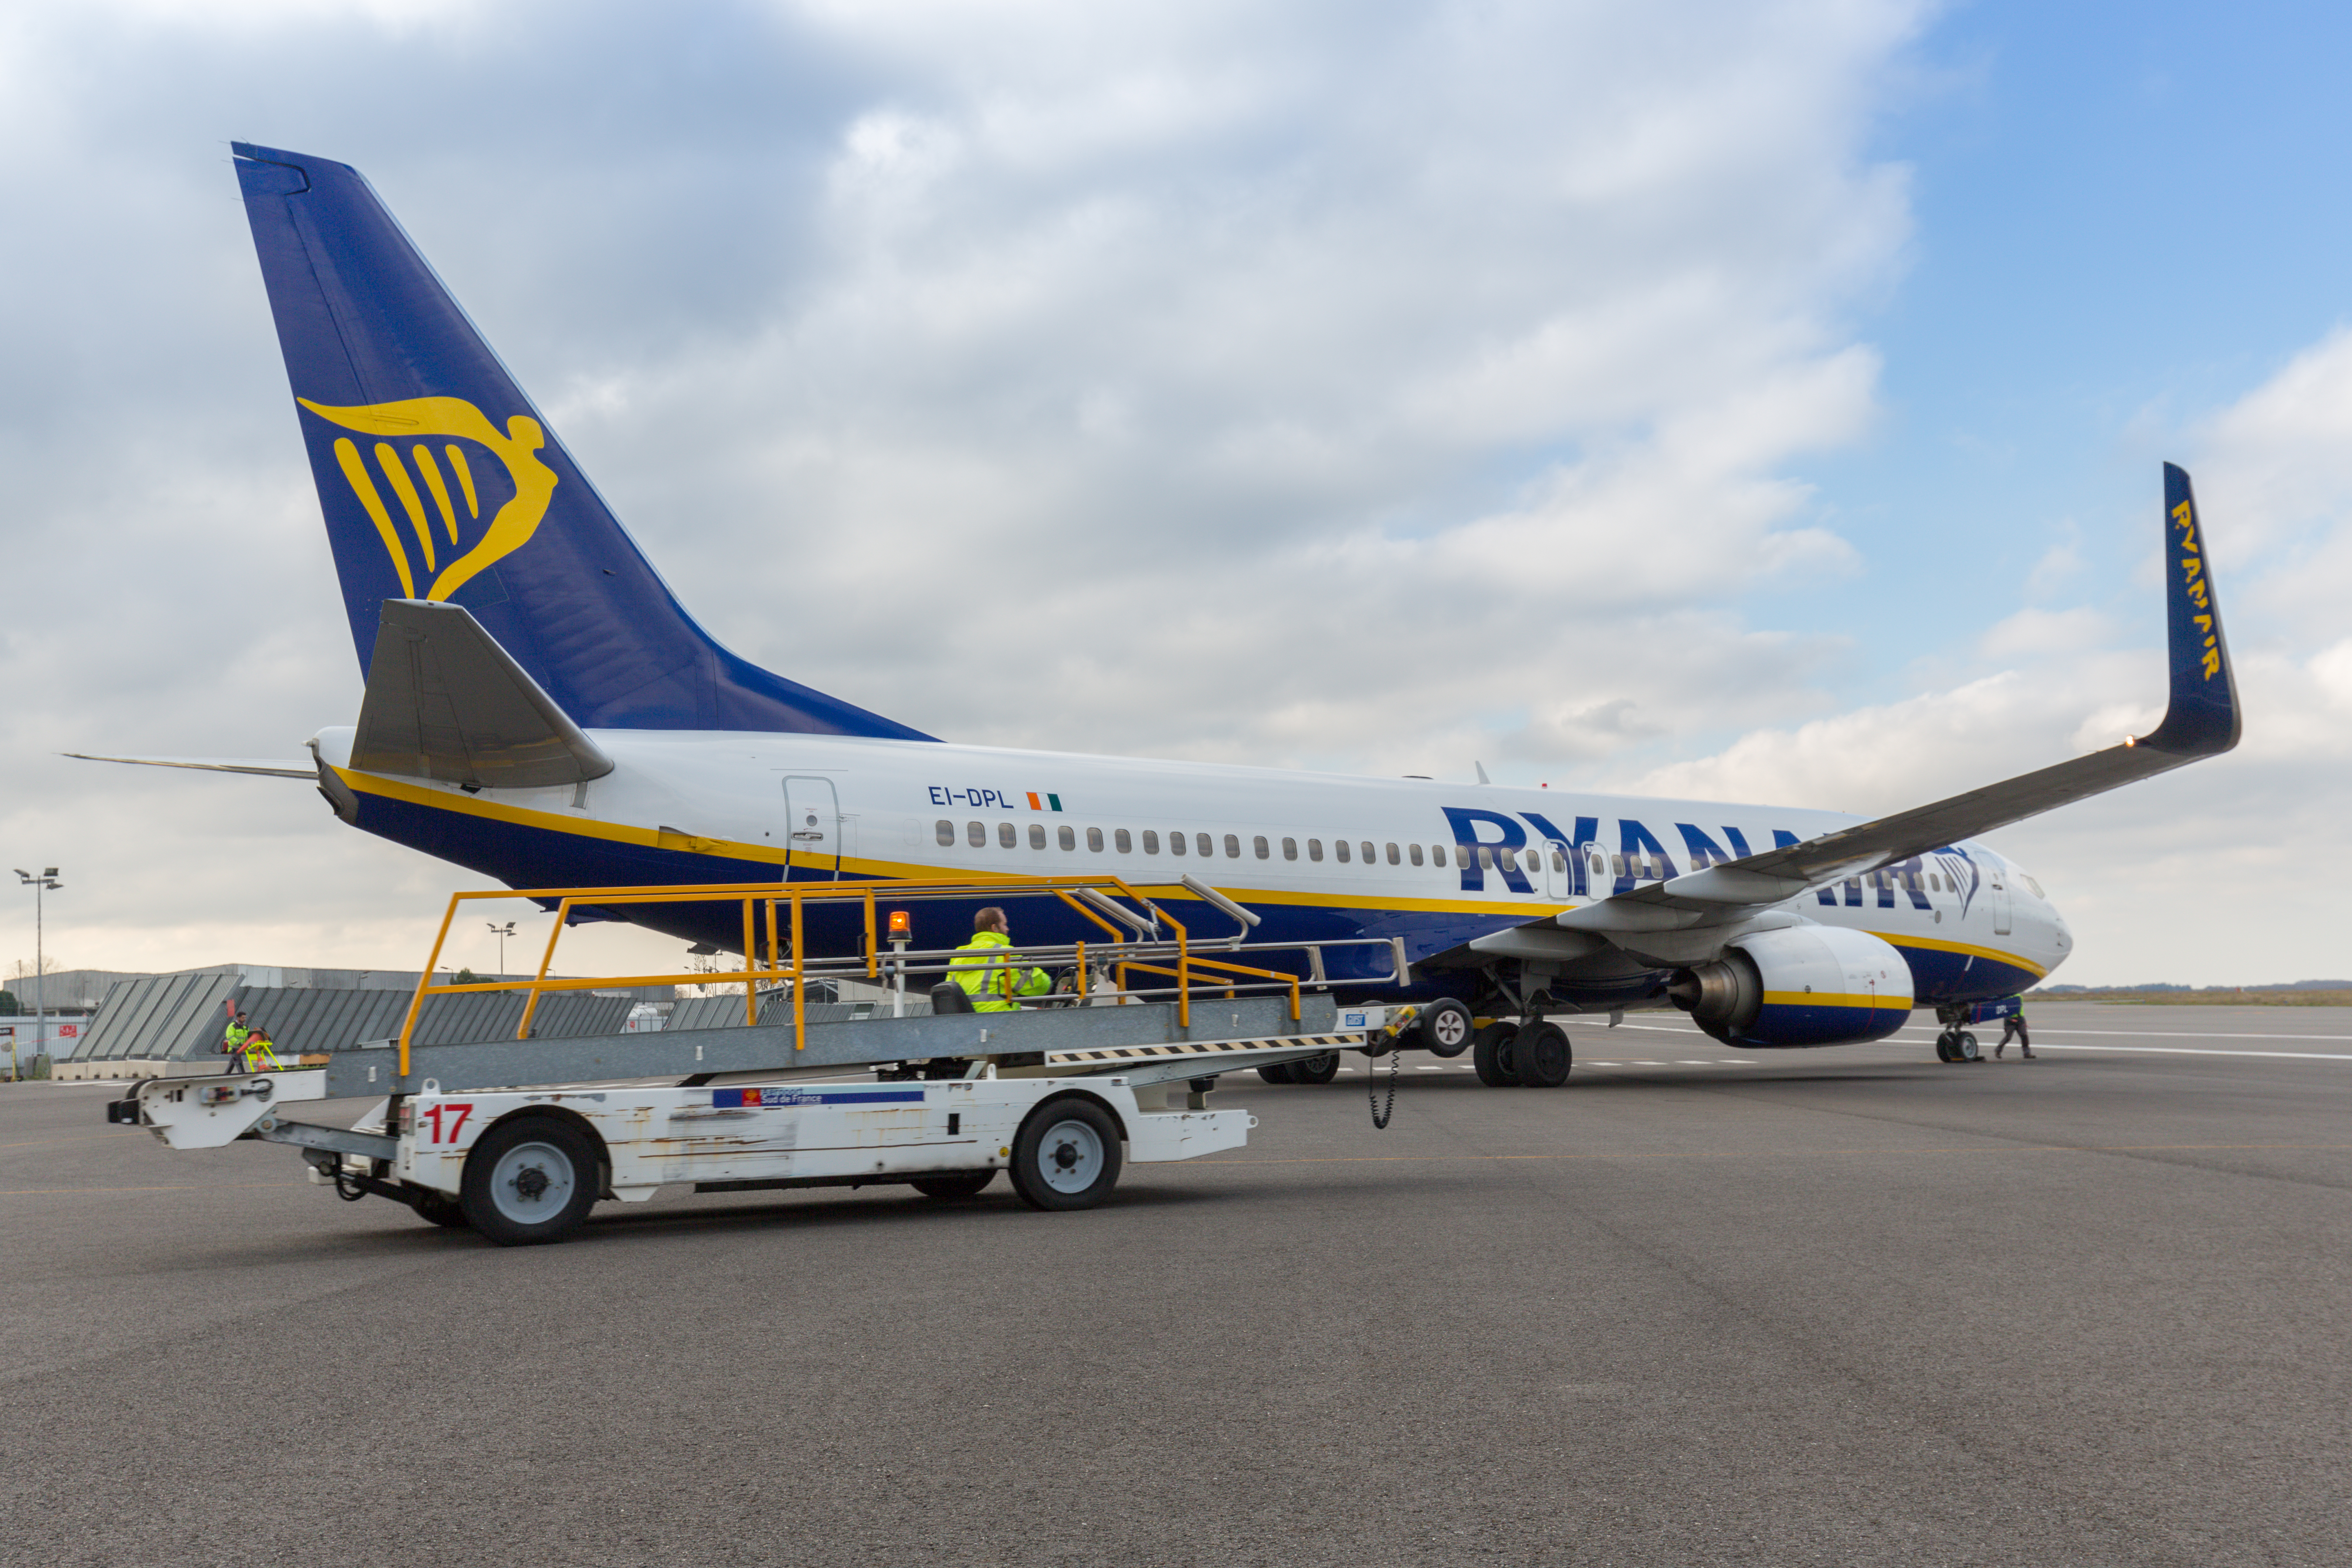
[[[1162,896],[1185,898],[1188,893],[1176,886],[1162,889],[1160,884],[1145,884]],[[1141,919],[1150,926],[1169,926],[1174,938],[1141,938],[1122,933],[1103,912],[1089,900],[1080,898],[1082,891],[1094,891],[1105,898],[1131,898],[1141,905]],[[553,903],[555,929],[548,931],[546,952],[539,954],[539,971],[529,980],[473,980],[466,985],[435,985],[433,973],[440,964],[442,947],[449,940],[449,926],[456,922],[459,905],[485,900],[485,898],[532,898],[541,905]],[[426,997],[449,997],[468,992],[529,992],[522,1004],[522,1020],[515,1025],[515,1039],[532,1037],[532,1018],[539,1013],[539,999],[548,992],[581,992],[581,990],[612,990],[619,985],[743,985],[743,1023],[760,1023],[760,994],[762,980],[793,985],[793,1048],[800,1051],[809,1044],[807,1025],[807,978],[811,973],[811,959],[807,957],[804,936],[804,910],[811,903],[861,905],[866,919],[866,952],[863,957],[842,959],[816,959],[814,971],[818,978],[833,978],[844,973],[863,971],[868,978],[882,976],[882,950],[875,933],[875,907],[877,900],[891,905],[903,903],[941,903],[941,900],[988,900],[1004,903],[1014,898],[1061,898],[1077,914],[1110,933],[1110,940],[1096,950],[1098,964],[1110,964],[1117,976],[1120,992],[1127,992],[1127,973],[1152,973],[1171,976],[1176,980],[1176,1020],[1183,1027],[1192,1025],[1192,987],[1218,987],[1218,980],[1202,983],[1197,971],[1209,971],[1211,976],[1254,976],[1256,980],[1272,983],[1275,987],[1287,987],[1291,999],[1291,1023],[1298,1020],[1298,976],[1277,973],[1272,969],[1247,969],[1242,964],[1225,964],[1218,959],[1204,959],[1192,954],[1192,938],[1167,910],[1157,907],[1145,889],[1136,889],[1120,877],[995,877],[988,882],[807,882],[807,884],[776,884],[776,882],[710,882],[710,884],[684,884],[684,886],[614,886],[614,889],[494,889],[480,893],[452,893],[449,912],[442,914],[440,931],[433,936],[433,952],[426,957],[423,976],[416,980],[416,994],[409,997],[407,1018],[400,1023],[400,1077],[409,1074],[409,1041],[416,1034],[416,1020],[423,1016]],[[680,971],[661,976],[609,976],[602,980],[562,980],[548,978],[548,969],[555,964],[555,945],[572,922],[574,910],[581,907],[619,907],[619,905],[656,905],[656,903],[741,903],[743,905],[743,969],[729,969],[720,973]],[[783,914],[779,917],[779,905]],[[781,924],[779,924],[781,922]],[[760,957],[760,938],[767,938],[767,961]],[[1063,957],[1077,959],[1077,999],[1087,999],[1087,943],[1075,943],[1073,947],[1061,945],[1030,945],[1021,957]],[[915,959],[950,959],[953,950],[924,950],[924,952],[896,952],[891,964],[908,964]],[[1169,959],[1174,957],[1174,969],[1164,964],[1150,964],[1145,959]],[[903,969],[901,969],[903,973]],[[1232,985],[1225,980],[1223,985]]]

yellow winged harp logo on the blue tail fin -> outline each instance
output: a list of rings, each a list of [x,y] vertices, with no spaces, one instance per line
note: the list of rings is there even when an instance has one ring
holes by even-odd
[[[416,536],[416,562],[423,564],[428,581],[423,595],[416,592],[419,571],[409,559],[409,548],[383,505],[383,491],[376,489],[374,475],[367,473],[367,458],[360,456],[358,442],[339,435],[334,440],[334,461],[343,465],[350,494],[360,498],[360,505],[367,508],[369,520],[376,524],[376,534],[383,536],[383,550],[393,557],[393,571],[400,574],[400,595],[405,599],[426,597],[447,602],[449,595],[473,581],[485,567],[506,559],[529,543],[532,534],[539,531],[539,520],[548,515],[548,498],[555,494],[555,470],[539,461],[539,449],[548,437],[536,418],[515,414],[506,421],[506,435],[499,435],[499,428],[482,416],[482,409],[463,397],[409,397],[405,402],[376,402],[365,409],[329,409],[308,397],[296,397],[294,402],[329,423],[376,437],[376,470],[400,501],[400,510],[409,520],[409,531]],[[499,508],[499,515],[489,520],[489,527],[480,531],[480,538],[470,548],[461,548],[461,541],[482,520],[482,496],[473,484],[466,449],[445,437],[487,447],[506,463],[506,477],[515,487],[515,498]],[[442,477],[440,461],[433,456],[435,440],[445,440],[442,456],[449,461],[449,475],[456,477],[454,501],[449,480]],[[414,477],[409,473],[412,463],[416,465]],[[416,491],[419,480],[423,480],[423,494]],[[433,496],[435,517],[426,517],[426,496]],[[456,520],[459,503],[466,505],[463,527]],[[435,520],[449,536],[447,555],[452,559],[447,567],[440,564],[442,545],[433,541]]]

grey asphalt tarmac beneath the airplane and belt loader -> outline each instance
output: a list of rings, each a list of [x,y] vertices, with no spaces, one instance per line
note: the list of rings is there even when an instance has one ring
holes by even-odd
[[[2352,1561],[2352,1009],[2032,1018],[548,1248],[7,1086],[0,1561]]]

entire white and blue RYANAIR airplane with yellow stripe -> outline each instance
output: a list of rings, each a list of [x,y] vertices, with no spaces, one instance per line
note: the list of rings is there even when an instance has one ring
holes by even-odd
[[[1435,1004],[1432,1051],[1470,1044],[1472,1013],[1517,1020],[1475,1041],[1489,1081],[1566,1077],[1550,1016],[1651,1006],[1755,1048],[1884,1039],[1929,1006],[1950,1058],[1971,1009],[2072,945],[1976,835],[2239,738],[2197,505],[2166,465],[2161,726],[1877,820],[936,741],[720,646],[367,181],[235,155],[367,693],[310,762],[106,762],[310,778],[346,823],[508,886],[1190,875],[1261,912],[1254,943],[1383,938],[1334,947],[1331,980],[1390,976],[1402,943],[1404,980],[1355,994]],[[915,912],[920,947],[969,936],[969,907]],[[734,905],[626,917],[743,940]]]

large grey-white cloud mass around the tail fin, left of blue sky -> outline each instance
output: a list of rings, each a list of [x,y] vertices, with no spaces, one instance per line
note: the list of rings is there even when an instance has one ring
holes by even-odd
[[[0,830],[78,959],[412,961],[466,882],[38,759],[353,710],[223,132],[374,179],[706,623],[936,733],[1562,778],[1825,703],[1743,607],[1856,567],[1797,463],[1875,418],[1919,5],[139,16],[0,110],[9,548],[101,585],[7,642]]]

